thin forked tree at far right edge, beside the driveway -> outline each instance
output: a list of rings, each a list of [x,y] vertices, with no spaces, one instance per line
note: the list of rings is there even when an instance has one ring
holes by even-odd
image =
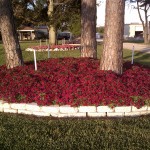
[[[148,10],[150,9],[150,1],[149,0],[137,0],[137,10],[138,10],[138,14],[139,14],[139,18],[142,22],[142,26],[143,26],[143,30],[144,30],[144,43],[147,44],[149,43],[149,22],[148,22]],[[141,12],[140,10],[144,11],[144,19],[141,16]]]

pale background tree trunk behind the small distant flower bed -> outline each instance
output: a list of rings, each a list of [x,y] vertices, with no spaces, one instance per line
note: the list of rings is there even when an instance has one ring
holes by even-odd
[[[49,0],[48,12],[47,12],[49,18],[52,17],[53,10],[54,10],[54,0]],[[51,45],[56,44],[56,31],[53,25],[49,26],[49,43]]]

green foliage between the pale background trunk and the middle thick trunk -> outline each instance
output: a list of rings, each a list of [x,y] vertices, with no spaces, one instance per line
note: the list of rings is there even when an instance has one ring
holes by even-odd
[[[54,1],[53,13],[49,17],[49,25],[56,31],[69,30],[75,35],[80,34],[81,0]]]

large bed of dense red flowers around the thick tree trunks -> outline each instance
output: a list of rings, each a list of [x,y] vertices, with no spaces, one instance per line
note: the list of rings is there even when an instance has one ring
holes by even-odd
[[[99,70],[99,60],[49,59],[7,70],[0,67],[0,99],[9,103],[135,106],[150,103],[150,69],[124,63],[123,75]]]

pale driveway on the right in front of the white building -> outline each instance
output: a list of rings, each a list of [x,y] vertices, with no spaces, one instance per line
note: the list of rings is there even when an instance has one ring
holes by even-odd
[[[123,43],[124,49],[132,50],[133,46],[135,51],[150,53],[150,45],[139,44],[139,43]]]

